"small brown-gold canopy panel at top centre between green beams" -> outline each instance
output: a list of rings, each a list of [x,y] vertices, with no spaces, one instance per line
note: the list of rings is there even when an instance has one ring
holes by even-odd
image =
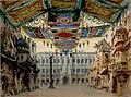
[[[55,9],[75,8],[78,0],[51,0],[51,7]]]

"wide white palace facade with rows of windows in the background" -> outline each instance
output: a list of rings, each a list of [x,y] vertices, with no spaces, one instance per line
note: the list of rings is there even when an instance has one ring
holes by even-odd
[[[57,84],[86,84],[87,72],[94,63],[95,53],[93,52],[73,52],[60,53],[39,52],[37,53],[39,73],[39,84],[49,83],[49,57],[53,54],[52,68],[55,85]]]

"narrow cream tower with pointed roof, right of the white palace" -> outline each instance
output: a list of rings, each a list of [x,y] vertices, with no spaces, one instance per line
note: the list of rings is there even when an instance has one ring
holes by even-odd
[[[110,80],[110,44],[105,39],[95,45],[96,50],[96,87],[109,88]]]

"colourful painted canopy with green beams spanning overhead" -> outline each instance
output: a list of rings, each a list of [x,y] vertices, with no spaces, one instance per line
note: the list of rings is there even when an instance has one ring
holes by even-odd
[[[22,27],[31,38],[52,39],[62,49],[74,48],[78,39],[100,37],[124,12],[130,0],[3,0],[0,15],[11,27]],[[108,26],[108,27],[107,27]],[[75,40],[72,44],[58,43]]]

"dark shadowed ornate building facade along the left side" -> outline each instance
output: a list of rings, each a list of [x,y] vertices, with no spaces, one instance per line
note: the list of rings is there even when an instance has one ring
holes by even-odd
[[[1,86],[2,96],[16,95],[25,88],[23,76],[25,75],[26,66],[32,70],[27,71],[29,75],[29,88],[36,87],[35,78],[38,74],[36,65],[36,45],[23,38],[20,28],[11,28],[4,20],[1,22]],[[24,40],[24,43],[22,41]],[[31,44],[31,45],[29,45]],[[29,59],[29,60],[27,60]],[[28,64],[27,64],[27,61]],[[36,73],[37,72],[37,73]]]

